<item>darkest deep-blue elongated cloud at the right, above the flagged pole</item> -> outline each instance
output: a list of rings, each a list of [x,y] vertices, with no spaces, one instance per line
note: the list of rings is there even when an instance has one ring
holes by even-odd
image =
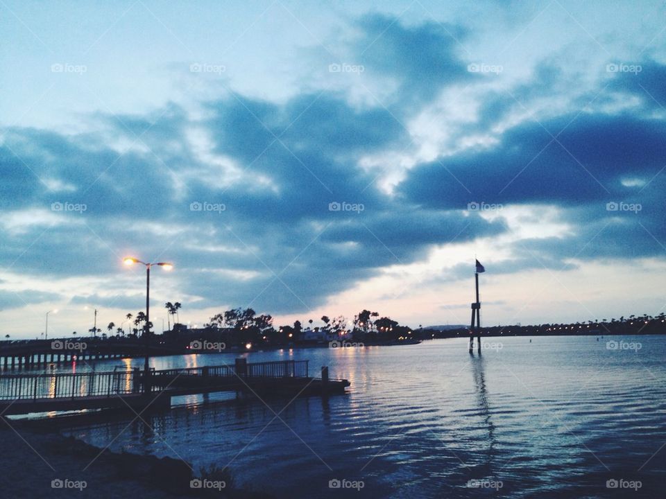
[[[563,130],[563,131],[562,131]],[[522,123],[498,146],[414,168],[399,190],[440,209],[468,202],[586,204],[632,193],[625,177],[656,175],[666,157],[666,123],[620,116],[561,116]]]

